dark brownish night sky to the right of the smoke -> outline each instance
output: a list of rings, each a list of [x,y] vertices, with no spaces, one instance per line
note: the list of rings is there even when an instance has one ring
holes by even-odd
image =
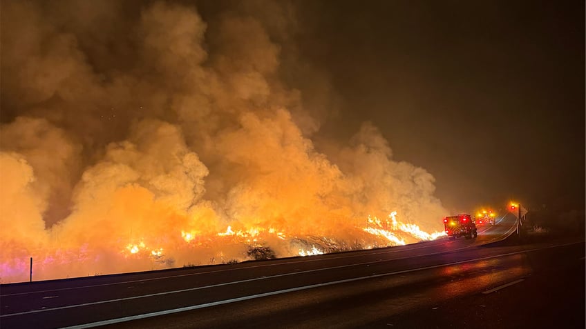
[[[300,51],[340,97],[322,132],[372,121],[451,210],[585,208],[583,1],[304,4]]]

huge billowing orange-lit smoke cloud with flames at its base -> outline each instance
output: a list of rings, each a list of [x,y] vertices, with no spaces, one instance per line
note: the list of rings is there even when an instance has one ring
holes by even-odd
[[[293,6],[239,2],[2,1],[0,282],[29,257],[55,279],[441,230],[433,177],[372,123],[315,138],[335,108]]]

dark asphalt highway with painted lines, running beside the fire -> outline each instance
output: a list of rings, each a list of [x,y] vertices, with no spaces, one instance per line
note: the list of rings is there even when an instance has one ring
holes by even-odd
[[[515,224],[509,215],[479,226],[477,239],[1,285],[0,327],[435,328],[417,312],[457,314],[458,303],[527,285],[551,266],[582,268],[574,288],[584,292],[583,239],[504,243]]]

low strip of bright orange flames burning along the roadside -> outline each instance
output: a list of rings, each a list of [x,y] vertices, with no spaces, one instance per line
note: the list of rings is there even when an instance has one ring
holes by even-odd
[[[254,248],[262,248],[262,255],[256,259],[276,257],[294,257],[322,255],[329,252],[402,246],[406,243],[429,241],[445,235],[444,232],[428,234],[415,224],[401,223],[395,219],[396,212],[389,215],[392,221],[380,221],[377,217],[368,217],[366,226],[355,228],[357,239],[352,243],[337,241],[328,237],[287,235],[275,228],[248,228],[233,230],[228,226],[224,232],[214,235],[202,235],[196,231],[178,233],[182,239],[166,244],[165,239],[144,238],[130,243],[121,243],[117,252],[92,250],[88,245],[80,248],[64,249],[62,246],[45,246],[33,252],[35,255],[35,279],[58,279],[84,275],[103,275],[120,270],[104,269],[102,257],[108,255],[109,261],[115,261],[117,268],[133,270],[153,270],[178,266],[197,266],[220,263],[236,263],[255,259],[250,253]],[[359,234],[359,232],[368,234]],[[155,242],[156,241],[156,242]],[[167,241],[169,241],[167,239]],[[177,243],[180,242],[180,243]],[[221,247],[225,246],[225,248]],[[169,250],[169,252],[167,252]],[[258,251],[257,251],[258,252]],[[270,252],[272,257],[267,257]],[[203,257],[191,257],[187,263],[178,263],[173,255],[190,254]],[[105,260],[105,259],[104,259]],[[4,260],[1,264],[3,283],[23,281],[28,275],[28,259],[17,261]],[[81,269],[95,268],[95,272],[82,272]]]

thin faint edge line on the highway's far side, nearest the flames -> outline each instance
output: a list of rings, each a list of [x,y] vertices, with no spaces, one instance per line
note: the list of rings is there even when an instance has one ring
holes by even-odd
[[[437,241],[437,240],[435,240]],[[430,241],[431,242],[431,241]],[[443,246],[444,244],[448,244],[451,243],[453,241],[448,241],[446,243],[439,243],[437,245],[433,245],[433,246]],[[415,243],[413,243],[413,245],[415,245]],[[417,247],[417,248],[409,248],[409,249],[403,249],[403,250],[384,250],[381,252],[370,252],[368,253],[368,255],[379,255],[379,254],[392,254],[395,252],[403,252],[403,251],[409,251],[409,250],[416,250],[416,249],[423,249],[423,248],[431,248],[433,246],[422,246],[422,247]],[[400,246],[397,246],[400,247]],[[460,249],[454,249],[454,250],[460,250]],[[362,250],[365,251],[365,250]],[[439,252],[441,253],[441,252]],[[420,255],[420,256],[428,256],[428,255],[435,255],[435,254],[424,254],[424,255]],[[298,259],[297,261],[285,261],[285,262],[279,262],[279,263],[272,263],[272,264],[263,264],[263,265],[254,265],[254,266],[246,266],[246,267],[242,267],[242,268],[231,268],[231,269],[223,269],[223,270],[211,270],[211,271],[205,271],[205,272],[196,272],[196,273],[188,273],[188,274],[184,274],[184,275],[169,275],[167,277],[155,277],[155,278],[151,278],[151,279],[141,279],[141,280],[129,280],[129,281],[120,281],[120,282],[111,282],[111,283],[102,283],[102,284],[93,284],[93,285],[89,285],[89,286],[79,286],[79,287],[70,287],[70,288],[59,288],[59,289],[48,289],[48,290],[36,290],[36,291],[30,291],[30,292],[18,292],[15,294],[6,294],[6,295],[2,295],[0,294],[0,297],[8,297],[8,296],[19,296],[19,295],[31,295],[31,294],[37,294],[37,293],[42,293],[42,292],[55,292],[55,291],[62,291],[62,290],[76,290],[76,289],[84,289],[84,288],[95,288],[95,287],[104,287],[104,286],[115,286],[115,285],[119,285],[119,284],[126,284],[126,283],[136,283],[136,282],[144,282],[144,281],[157,281],[157,280],[164,280],[164,279],[173,279],[176,277],[191,277],[191,276],[195,276],[195,275],[205,275],[205,274],[210,274],[210,273],[220,273],[220,272],[231,272],[234,270],[246,270],[249,268],[264,268],[264,267],[270,267],[270,266],[279,266],[279,265],[287,265],[287,264],[294,264],[294,263],[307,263],[307,262],[313,262],[313,261],[325,261],[325,260],[330,260],[330,259],[343,259],[343,258],[355,258],[355,257],[363,257],[364,255],[346,255],[346,256],[341,256],[341,257],[328,257],[326,259]],[[419,257],[419,256],[412,256],[412,257]],[[411,258],[411,257],[406,257],[406,258]],[[403,259],[403,258],[400,258]],[[361,265],[362,263],[358,263],[355,265]]]

